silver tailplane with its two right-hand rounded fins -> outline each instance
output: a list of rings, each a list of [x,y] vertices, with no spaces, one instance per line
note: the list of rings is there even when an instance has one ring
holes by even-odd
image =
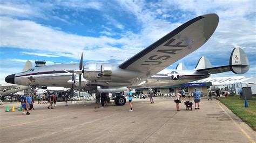
[[[244,74],[250,69],[250,65],[245,52],[241,48],[234,48],[230,56],[230,65],[212,67],[211,62],[203,56],[195,69],[197,73],[218,74],[233,71],[235,74]]]

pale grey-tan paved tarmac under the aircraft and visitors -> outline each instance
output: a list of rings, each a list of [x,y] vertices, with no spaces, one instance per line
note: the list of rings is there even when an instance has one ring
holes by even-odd
[[[94,109],[94,101],[65,106],[35,103],[31,115],[4,112],[0,142],[255,142],[256,132],[219,101],[201,100],[200,110],[176,110],[173,97],[133,99],[129,104]]]

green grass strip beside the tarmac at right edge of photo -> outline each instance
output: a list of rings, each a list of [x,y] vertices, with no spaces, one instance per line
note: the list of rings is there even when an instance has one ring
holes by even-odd
[[[248,100],[248,108],[245,108],[245,100],[240,99],[238,95],[231,95],[228,98],[219,99],[221,103],[227,106],[235,115],[250,125],[256,131],[256,97]]]

